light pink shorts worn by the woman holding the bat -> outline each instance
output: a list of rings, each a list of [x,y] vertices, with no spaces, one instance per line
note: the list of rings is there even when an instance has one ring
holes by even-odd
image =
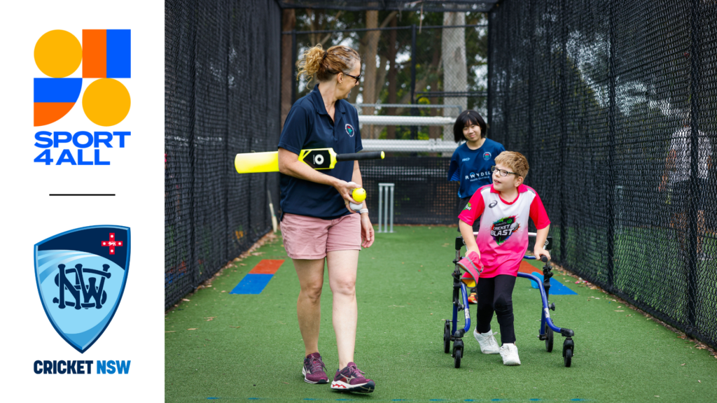
[[[292,259],[323,259],[334,250],[361,250],[361,216],[320,219],[284,214],[281,234]]]

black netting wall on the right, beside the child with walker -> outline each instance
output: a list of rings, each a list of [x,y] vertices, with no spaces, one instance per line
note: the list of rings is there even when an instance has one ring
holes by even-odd
[[[715,345],[717,5],[503,1],[493,138],[528,157],[555,259]]]

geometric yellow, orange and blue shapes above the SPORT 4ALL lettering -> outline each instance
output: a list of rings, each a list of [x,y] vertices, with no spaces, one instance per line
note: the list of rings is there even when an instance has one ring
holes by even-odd
[[[130,30],[83,29],[82,44],[62,29],[37,40],[35,64],[48,77],[34,79],[34,125],[57,122],[70,112],[82,91],[82,110],[92,123],[113,126],[130,111],[130,93],[117,78],[130,78]],[[82,64],[82,77],[68,77]]]

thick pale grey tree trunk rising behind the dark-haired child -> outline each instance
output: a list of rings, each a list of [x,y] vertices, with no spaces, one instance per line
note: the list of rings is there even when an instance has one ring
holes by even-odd
[[[443,25],[465,25],[465,13],[443,13]],[[443,90],[461,92],[468,90],[467,68],[465,59],[465,28],[443,29],[442,61]],[[460,105],[462,110],[468,108],[467,97],[444,97],[444,105]],[[444,116],[457,116],[456,108],[443,108]],[[453,131],[445,127],[443,140],[452,141]]]

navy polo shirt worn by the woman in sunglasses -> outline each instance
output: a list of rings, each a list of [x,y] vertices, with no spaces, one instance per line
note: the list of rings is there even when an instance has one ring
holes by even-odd
[[[298,154],[310,148],[333,148],[337,154],[358,153],[361,146],[359,113],[346,100],[336,101],[332,121],[326,112],[326,105],[318,91],[313,91],[297,100],[289,111],[284,130],[279,138],[279,147]],[[331,175],[342,181],[351,181],[353,161],[337,162],[333,169],[322,169],[322,174]],[[351,214],[346,202],[333,186],[305,181],[293,176],[280,174],[281,210],[321,219],[335,219]]]

